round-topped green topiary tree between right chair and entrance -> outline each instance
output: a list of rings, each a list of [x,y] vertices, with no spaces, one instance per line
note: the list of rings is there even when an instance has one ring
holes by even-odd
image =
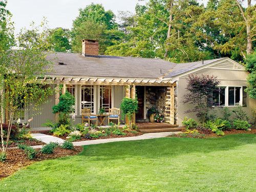
[[[122,117],[126,115],[129,120],[129,129],[132,127],[132,115],[138,110],[138,100],[124,97],[120,104],[120,109],[122,111]]]

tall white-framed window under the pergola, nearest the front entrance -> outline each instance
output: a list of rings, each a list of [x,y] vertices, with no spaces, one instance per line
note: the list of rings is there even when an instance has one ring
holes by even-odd
[[[99,88],[99,107],[103,108],[106,112],[111,109],[112,99],[112,88],[111,86],[100,86]]]

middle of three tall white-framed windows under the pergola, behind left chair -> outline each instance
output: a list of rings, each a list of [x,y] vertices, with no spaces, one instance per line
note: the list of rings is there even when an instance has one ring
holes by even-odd
[[[81,109],[90,108],[91,113],[94,113],[94,87],[81,87]]]

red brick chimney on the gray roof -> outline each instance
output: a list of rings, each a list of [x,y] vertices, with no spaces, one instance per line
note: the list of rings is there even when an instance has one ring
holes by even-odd
[[[82,55],[83,56],[98,56],[99,55],[99,41],[83,39],[82,40]]]

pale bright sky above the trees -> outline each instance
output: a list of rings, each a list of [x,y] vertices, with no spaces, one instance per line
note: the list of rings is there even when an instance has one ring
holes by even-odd
[[[134,12],[137,3],[143,5],[145,1],[139,0],[8,0],[7,9],[12,13],[15,33],[20,29],[29,28],[31,22],[39,25],[45,16],[49,28],[72,28],[72,22],[78,15],[79,8],[85,8],[91,3],[102,4],[105,10],[112,10],[116,15],[118,11]],[[206,4],[207,0],[199,3]]]

